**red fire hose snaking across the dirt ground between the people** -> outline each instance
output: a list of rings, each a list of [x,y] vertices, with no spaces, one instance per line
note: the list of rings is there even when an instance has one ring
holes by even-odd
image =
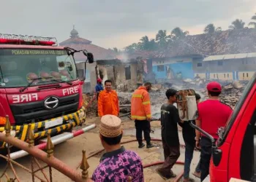
[[[131,142],[135,142],[137,141],[136,139],[132,139],[132,140],[129,140],[129,141],[124,141],[124,142],[121,142],[121,145],[122,144],[126,144],[126,143],[131,143]],[[162,141],[161,139],[158,139],[158,138],[151,138],[151,141]],[[184,144],[181,144],[180,145],[182,148],[185,147]],[[105,151],[105,149],[100,149],[99,151],[94,151],[92,154],[89,155],[89,157],[87,157],[87,159],[90,159],[91,157],[94,157],[95,155],[101,153],[102,151]],[[148,165],[143,165],[143,168],[147,168],[147,167],[151,167],[151,166],[154,166],[154,165],[162,165],[164,163],[164,161],[159,161],[159,162],[153,162],[153,163],[150,163]],[[176,165],[184,165],[184,162],[182,161],[176,161]],[[80,167],[80,163],[78,165],[78,167]],[[77,169],[78,169],[77,167]],[[182,171],[180,174],[178,174],[175,178],[175,182],[178,182],[182,176],[184,175],[184,171]]]

